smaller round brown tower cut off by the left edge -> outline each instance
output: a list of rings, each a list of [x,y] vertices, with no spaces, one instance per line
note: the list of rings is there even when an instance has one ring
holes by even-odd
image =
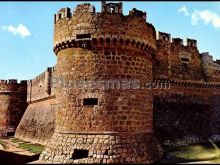
[[[27,107],[27,83],[0,82],[0,136],[13,134]]]

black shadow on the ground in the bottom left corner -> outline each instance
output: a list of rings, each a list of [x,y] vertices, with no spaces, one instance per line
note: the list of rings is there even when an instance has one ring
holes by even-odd
[[[16,153],[0,150],[1,164],[26,164],[28,162],[38,160],[39,156],[39,154],[33,156],[19,155]]]

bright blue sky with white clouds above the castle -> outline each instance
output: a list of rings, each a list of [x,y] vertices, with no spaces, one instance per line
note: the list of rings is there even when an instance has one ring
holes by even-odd
[[[54,14],[80,3],[0,2],[0,79],[29,80],[54,66]],[[101,11],[101,2],[89,3]],[[196,39],[200,53],[220,59],[220,2],[123,2],[124,15],[133,8],[146,11],[156,31]]]

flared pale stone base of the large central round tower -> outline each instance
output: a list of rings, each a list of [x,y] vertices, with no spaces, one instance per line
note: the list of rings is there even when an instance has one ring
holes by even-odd
[[[40,156],[46,163],[153,163],[162,149],[151,134],[55,132]]]

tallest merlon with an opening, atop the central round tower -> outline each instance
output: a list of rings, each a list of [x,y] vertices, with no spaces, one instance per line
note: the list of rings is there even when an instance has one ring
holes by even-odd
[[[105,1],[102,1],[102,13],[122,14],[122,3],[106,3]]]

